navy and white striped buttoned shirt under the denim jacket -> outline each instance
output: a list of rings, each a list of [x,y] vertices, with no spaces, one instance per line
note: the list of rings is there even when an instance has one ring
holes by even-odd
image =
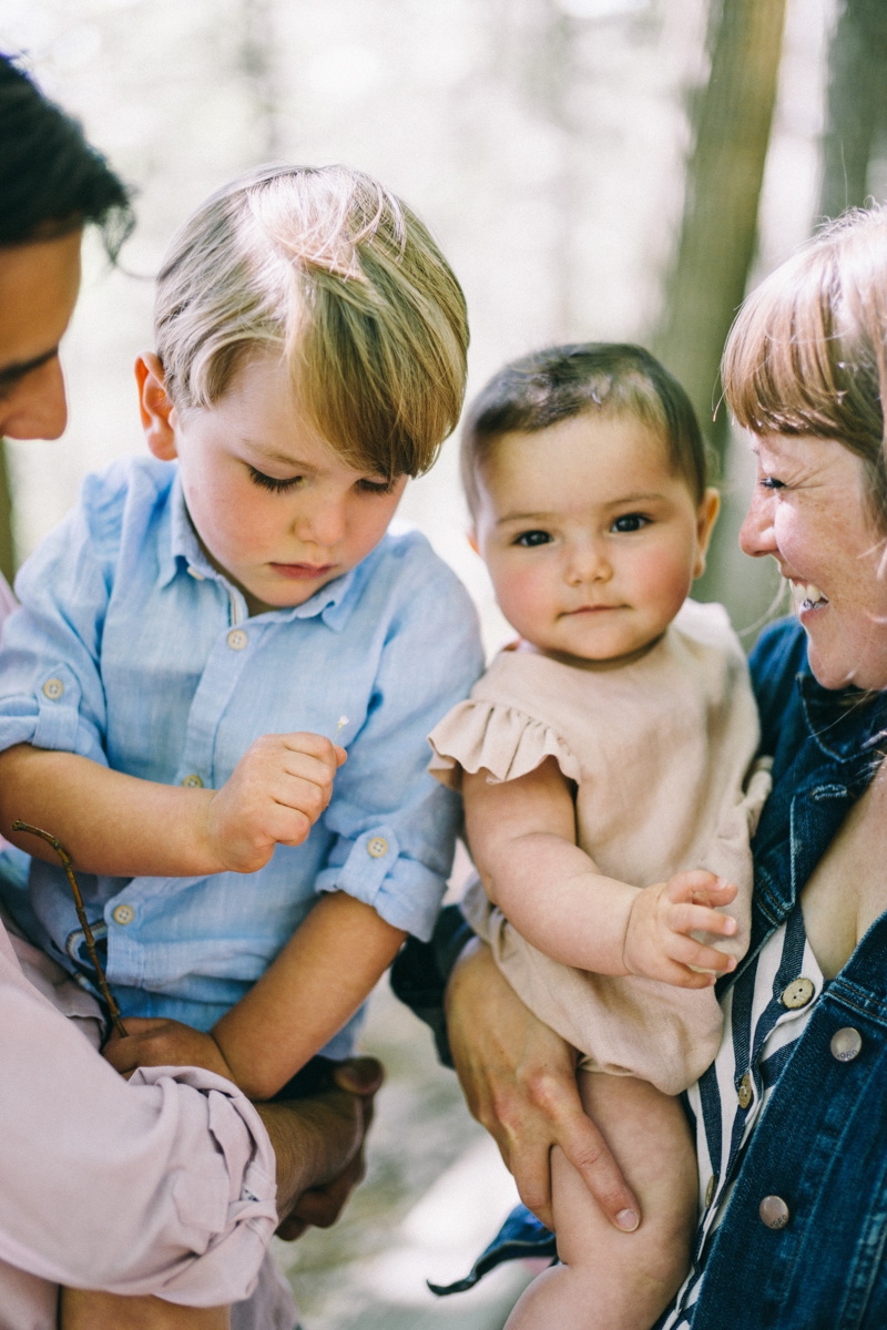
[[[746,1146],[823,990],[801,904],[727,991],[718,1056],[688,1091],[697,1124],[699,1228],[693,1264],[661,1330],[689,1330],[705,1262]]]

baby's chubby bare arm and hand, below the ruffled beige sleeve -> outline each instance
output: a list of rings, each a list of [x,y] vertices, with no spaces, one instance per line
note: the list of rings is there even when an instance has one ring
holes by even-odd
[[[684,988],[714,983],[703,971],[735,962],[690,934],[729,936],[718,914],[735,887],[711,872],[681,872],[638,888],[600,874],[576,845],[570,786],[555,758],[513,781],[464,774],[465,826],[489,899],[517,932],[553,960],[602,975],[646,975]]]

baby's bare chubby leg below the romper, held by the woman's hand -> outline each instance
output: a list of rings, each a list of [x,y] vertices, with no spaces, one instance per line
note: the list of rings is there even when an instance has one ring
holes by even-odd
[[[531,1283],[505,1330],[649,1330],[686,1275],[697,1168],[681,1104],[629,1076],[580,1072],[578,1084],[644,1220],[634,1233],[614,1229],[555,1148],[552,1205],[561,1264]]]

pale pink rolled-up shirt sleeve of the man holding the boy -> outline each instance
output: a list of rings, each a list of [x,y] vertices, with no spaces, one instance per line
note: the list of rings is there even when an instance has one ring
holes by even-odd
[[[275,1158],[230,1081],[122,1080],[25,980],[1,926],[0,1067],[0,1262],[185,1306],[250,1295],[277,1225]]]

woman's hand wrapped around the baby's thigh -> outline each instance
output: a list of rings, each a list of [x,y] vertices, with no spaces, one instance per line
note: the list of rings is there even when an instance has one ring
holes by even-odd
[[[576,1052],[513,994],[489,948],[465,948],[447,987],[449,1047],[472,1116],[495,1137],[524,1205],[553,1228],[549,1153],[560,1145],[610,1224],[640,1206],[576,1087]]]

